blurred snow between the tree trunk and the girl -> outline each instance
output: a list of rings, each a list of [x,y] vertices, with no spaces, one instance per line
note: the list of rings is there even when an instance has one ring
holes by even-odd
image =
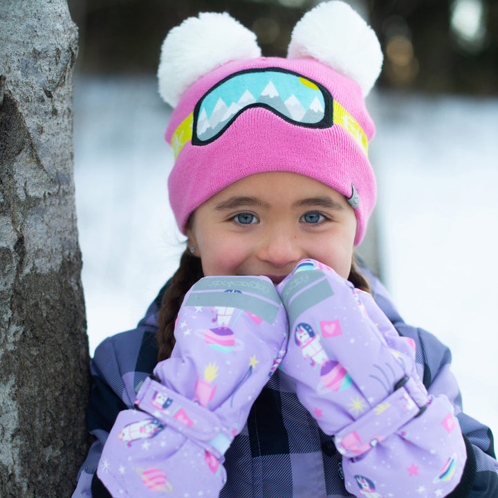
[[[133,328],[178,266],[169,110],[153,79],[75,80],[75,187],[91,354]]]

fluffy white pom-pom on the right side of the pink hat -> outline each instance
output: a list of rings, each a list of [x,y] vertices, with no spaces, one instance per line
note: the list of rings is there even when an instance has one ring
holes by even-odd
[[[382,68],[374,30],[347,3],[320,3],[296,24],[289,59],[311,57],[360,84],[368,95]]]

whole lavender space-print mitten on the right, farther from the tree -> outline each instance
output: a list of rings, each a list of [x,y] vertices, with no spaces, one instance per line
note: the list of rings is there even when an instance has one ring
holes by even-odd
[[[301,261],[277,286],[289,323],[282,369],[343,456],[356,496],[446,496],[465,444],[445,396],[428,396],[401,338],[367,293],[331,268]]]

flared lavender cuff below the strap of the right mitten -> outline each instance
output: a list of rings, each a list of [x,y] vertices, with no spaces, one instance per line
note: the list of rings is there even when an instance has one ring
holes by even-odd
[[[461,481],[467,454],[448,398],[429,396],[420,416],[359,458],[342,460],[344,484],[358,497],[445,497]]]

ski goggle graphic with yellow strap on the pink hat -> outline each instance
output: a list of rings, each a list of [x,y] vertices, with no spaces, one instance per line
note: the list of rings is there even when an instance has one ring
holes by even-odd
[[[172,136],[175,158],[183,145],[205,145],[219,138],[246,109],[263,107],[297,126],[339,124],[367,155],[367,136],[322,84],[283,68],[248,69],[214,85]]]

